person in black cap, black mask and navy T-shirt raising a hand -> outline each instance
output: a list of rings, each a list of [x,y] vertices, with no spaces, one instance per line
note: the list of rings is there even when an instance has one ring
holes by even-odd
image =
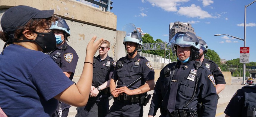
[[[0,54],[0,107],[7,116],[49,117],[57,100],[73,106],[84,106],[88,101],[93,56],[104,39],[94,42],[93,37],[88,43],[83,72],[75,85],[54,59],[44,54],[56,46],[49,29],[55,21],[53,13],[15,6],[2,15],[0,38],[6,43]]]

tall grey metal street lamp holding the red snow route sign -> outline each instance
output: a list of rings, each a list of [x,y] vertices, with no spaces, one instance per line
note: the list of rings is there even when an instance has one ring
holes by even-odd
[[[253,1],[252,3],[254,3],[255,1]],[[246,39],[246,7],[250,6],[252,3],[244,6],[244,35],[243,35],[243,39],[238,38],[238,37],[234,37],[234,36],[230,36],[230,35],[227,35],[227,34],[222,34],[222,35],[227,35],[227,36],[230,36],[230,37],[234,37],[236,39],[243,40],[243,47],[245,47],[245,39]],[[215,36],[219,36],[219,35],[220,34],[215,34]],[[245,63],[243,63],[243,84],[245,84]]]

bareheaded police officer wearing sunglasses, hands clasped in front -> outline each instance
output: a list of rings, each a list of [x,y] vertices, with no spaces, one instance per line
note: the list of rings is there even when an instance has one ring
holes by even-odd
[[[99,48],[99,55],[93,59],[93,82],[87,105],[77,109],[77,117],[88,117],[93,105],[98,106],[98,117],[105,117],[109,110],[109,83],[115,68],[115,61],[108,56],[110,42],[104,40]]]

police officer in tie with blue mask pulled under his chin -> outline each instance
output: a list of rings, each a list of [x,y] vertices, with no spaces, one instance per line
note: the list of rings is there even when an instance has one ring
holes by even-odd
[[[189,32],[178,32],[168,46],[174,46],[179,61],[170,63],[160,71],[152,97],[149,117],[215,117],[217,94],[210,71],[195,61],[199,56],[199,40]],[[205,108],[197,115],[197,103]]]

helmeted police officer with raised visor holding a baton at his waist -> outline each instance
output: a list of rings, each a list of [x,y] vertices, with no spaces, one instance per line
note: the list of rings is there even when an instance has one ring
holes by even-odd
[[[143,46],[138,31],[128,33],[123,44],[128,54],[117,61],[110,79],[110,92],[115,99],[106,117],[142,117],[146,92],[154,88],[154,69],[145,57],[137,53]],[[127,88],[127,85],[140,77],[140,81]]]

